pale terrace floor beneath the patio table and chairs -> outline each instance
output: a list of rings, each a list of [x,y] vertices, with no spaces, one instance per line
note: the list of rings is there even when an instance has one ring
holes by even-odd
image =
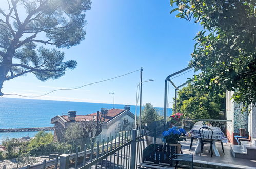
[[[191,154],[195,150],[197,140],[193,141],[191,151],[189,151],[190,141],[191,140],[188,139],[187,141],[181,142],[181,144],[183,146],[183,153],[185,153],[185,154]],[[209,153],[209,145],[205,145],[204,152],[202,153],[202,156],[200,156],[200,154],[194,154],[194,160],[198,160],[198,161],[202,161],[202,162],[222,163],[224,165],[228,164],[228,166],[234,166],[234,167],[235,167],[235,165],[240,165],[240,166],[243,166],[244,168],[254,168],[254,167],[256,168],[256,160],[234,158],[230,151],[230,143],[227,143],[227,144],[223,143],[225,155],[222,152],[221,143],[216,143],[216,145],[217,145],[218,151],[221,155],[220,157],[216,157],[215,155],[213,155],[211,157],[211,155]],[[255,156],[256,156],[256,154],[255,154]]]

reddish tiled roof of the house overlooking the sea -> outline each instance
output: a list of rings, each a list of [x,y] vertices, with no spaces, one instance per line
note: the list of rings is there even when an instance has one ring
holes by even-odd
[[[109,120],[113,119],[115,116],[119,115],[123,111],[124,111],[124,109],[109,109],[104,122],[108,122]],[[101,112],[99,112],[99,113],[101,113]],[[93,117],[96,115],[97,115],[97,113],[91,113],[88,115],[76,115],[75,121],[91,121],[91,120],[93,120]],[[62,117],[67,122],[70,122],[67,115],[63,115]]]

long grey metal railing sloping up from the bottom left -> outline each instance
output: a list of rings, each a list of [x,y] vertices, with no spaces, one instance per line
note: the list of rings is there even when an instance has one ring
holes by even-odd
[[[123,131],[103,140],[91,142],[90,149],[84,146],[84,151],[76,148],[76,153],[57,155],[43,163],[28,165],[25,168],[137,168],[142,162],[142,151],[156,142],[157,134],[167,128],[163,121],[144,126],[143,129]]]

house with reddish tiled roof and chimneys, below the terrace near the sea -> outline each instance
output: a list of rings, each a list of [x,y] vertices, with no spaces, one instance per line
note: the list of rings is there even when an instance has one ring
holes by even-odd
[[[98,139],[114,136],[120,131],[130,130],[134,126],[135,116],[130,112],[130,106],[125,105],[124,109],[101,109],[101,113],[106,114],[102,124],[102,132]],[[96,122],[97,113],[87,115],[76,115],[76,111],[68,111],[68,115],[55,116],[51,119],[51,124],[54,124],[54,140],[64,142],[66,129],[70,124],[75,122]]]

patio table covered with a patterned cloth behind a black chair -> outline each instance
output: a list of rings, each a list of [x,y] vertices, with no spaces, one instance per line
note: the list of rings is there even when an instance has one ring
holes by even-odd
[[[221,131],[221,128],[213,127],[213,126],[208,126],[208,127],[211,128],[212,132],[213,132],[213,134],[212,134],[213,152],[214,152],[215,156],[220,157],[220,153],[218,152],[218,149],[216,147],[216,141],[221,140],[223,143],[227,143],[228,140],[227,140],[225,134]],[[186,133],[187,136],[192,136],[192,137],[198,139],[198,144],[196,145],[196,148],[194,151],[195,154],[201,150],[201,138],[200,138],[200,133],[199,133],[200,128],[202,128],[202,125],[194,125],[193,128],[188,133]],[[207,134],[205,134],[205,131],[204,131],[204,135],[208,136],[208,132],[207,132]]]

